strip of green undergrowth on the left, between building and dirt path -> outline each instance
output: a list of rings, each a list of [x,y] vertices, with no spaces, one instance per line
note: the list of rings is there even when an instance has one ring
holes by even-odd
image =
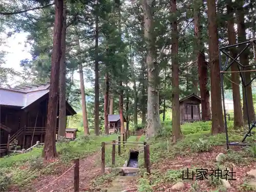
[[[101,142],[117,139],[110,136],[79,136],[74,141],[62,140],[56,144],[58,161],[45,163],[41,158],[42,147],[26,154],[10,155],[0,160],[0,191],[10,184],[23,186],[39,175],[60,174],[63,165],[69,166],[74,158],[86,158],[99,151]]]

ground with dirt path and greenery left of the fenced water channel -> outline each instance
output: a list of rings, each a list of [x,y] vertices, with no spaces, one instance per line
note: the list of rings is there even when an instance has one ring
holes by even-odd
[[[76,141],[63,140],[56,144],[59,156],[54,161],[44,161],[40,158],[41,147],[26,154],[1,158],[0,188],[13,192],[72,191],[74,158],[80,159],[82,188],[99,173],[95,162],[99,159],[101,142],[111,142],[117,138],[117,135],[90,135],[81,136]],[[46,185],[48,186],[45,187]],[[43,189],[39,190],[41,188]]]

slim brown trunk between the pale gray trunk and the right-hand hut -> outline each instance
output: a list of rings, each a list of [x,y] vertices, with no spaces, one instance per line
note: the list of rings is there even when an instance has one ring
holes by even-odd
[[[178,56],[178,25],[176,0],[170,1],[170,13],[172,18],[172,120],[173,120],[173,142],[182,138],[180,129],[180,101],[179,101],[179,56]]]

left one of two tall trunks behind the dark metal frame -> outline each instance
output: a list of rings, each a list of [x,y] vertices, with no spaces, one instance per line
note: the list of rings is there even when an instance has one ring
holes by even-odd
[[[234,31],[234,9],[233,3],[231,0],[226,0],[227,6],[227,32],[228,32],[228,43],[229,45],[234,45],[237,43],[236,32]],[[237,48],[230,48],[230,52],[233,58],[237,57]],[[231,71],[238,71],[239,65],[237,62],[234,62],[231,65]],[[234,128],[240,128],[243,126],[243,114],[242,114],[242,104],[241,104],[241,95],[240,95],[240,84],[239,73],[231,73],[231,83],[232,85],[232,94],[233,94],[233,106],[234,106]]]

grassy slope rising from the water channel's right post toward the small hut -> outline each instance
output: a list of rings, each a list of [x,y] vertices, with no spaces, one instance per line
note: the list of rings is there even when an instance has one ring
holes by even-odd
[[[172,186],[172,184],[175,184],[177,181],[181,181],[182,170],[185,168],[184,166],[182,166],[182,163],[188,161],[189,165],[192,165],[194,163],[197,163],[194,162],[195,158],[198,162],[200,162],[200,159],[202,159],[202,157],[204,156],[203,154],[200,155],[200,153],[210,154],[212,153],[211,150],[214,150],[217,145],[225,145],[225,134],[219,134],[216,136],[210,135],[211,122],[196,122],[183,124],[181,128],[184,138],[183,140],[175,144],[170,142],[172,126],[167,124],[168,123],[166,122],[164,129],[161,131],[161,134],[158,137],[150,140],[152,174],[150,177],[144,175],[139,180],[139,191],[164,191],[163,188],[168,188]],[[229,141],[241,141],[241,139],[243,138],[243,134],[232,130],[232,124],[232,121],[228,122]],[[249,137],[247,141],[255,141],[255,139],[255,137]],[[225,146],[223,148],[225,149]],[[219,152],[216,153],[218,155]],[[191,159],[189,160],[190,156]],[[194,157],[194,160],[192,160],[192,157]],[[208,160],[214,162],[215,157]],[[255,164],[255,159],[256,146],[246,147],[243,151],[240,152],[234,152],[231,150],[227,155],[227,161],[229,164],[227,163],[226,166],[230,164],[237,165],[238,163],[245,164],[244,166],[253,165],[253,163]],[[176,164],[177,168],[173,169],[173,164]],[[139,162],[139,166],[144,170],[143,162]],[[244,186],[247,185],[239,185],[238,188],[241,187],[241,190],[239,189],[239,191],[243,191],[245,188]],[[222,190],[223,188],[220,185],[219,181],[209,181],[207,187],[207,190],[199,189],[198,183],[195,182],[191,183],[190,189],[184,191],[226,191]],[[251,191],[248,186],[247,189],[248,190],[246,191]]]

